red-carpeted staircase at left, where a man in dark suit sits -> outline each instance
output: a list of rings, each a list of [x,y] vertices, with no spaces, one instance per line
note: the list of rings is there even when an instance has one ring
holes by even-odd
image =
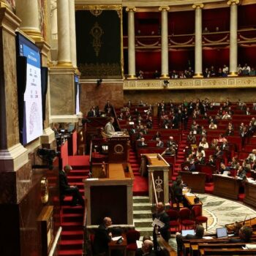
[[[88,178],[89,156],[71,156],[69,165],[72,166],[67,176],[69,185],[78,186],[81,195],[84,195],[83,178]],[[71,207],[72,197],[64,198],[61,206],[61,242],[59,255],[83,255],[83,207]]]

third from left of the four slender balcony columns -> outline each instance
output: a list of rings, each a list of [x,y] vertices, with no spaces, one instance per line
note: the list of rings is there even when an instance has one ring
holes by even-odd
[[[194,78],[203,78],[202,58],[202,9],[203,4],[194,4],[195,9],[195,75]]]

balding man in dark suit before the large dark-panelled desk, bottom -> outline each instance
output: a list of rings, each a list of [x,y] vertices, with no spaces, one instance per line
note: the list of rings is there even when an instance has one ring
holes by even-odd
[[[94,255],[108,255],[108,243],[111,241],[112,233],[108,227],[112,225],[110,217],[105,217],[95,232],[93,250]]]

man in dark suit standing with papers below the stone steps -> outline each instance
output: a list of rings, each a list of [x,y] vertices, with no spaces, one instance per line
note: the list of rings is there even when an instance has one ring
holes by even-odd
[[[170,239],[170,225],[169,225],[169,217],[165,212],[165,205],[162,202],[157,203],[157,212],[153,214],[153,241],[154,241],[154,250],[157,250],[157,235],[161,235],[165,241],[169,241]]]

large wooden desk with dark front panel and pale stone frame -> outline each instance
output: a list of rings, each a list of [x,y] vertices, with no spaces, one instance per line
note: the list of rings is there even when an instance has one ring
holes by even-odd
[[[83,181],[88,202],[87,225],[98,225],[105,216],[111,216],[116,225],[133,225],[132,167],[129,163],[110,163],[107,170],[108,178]]]

